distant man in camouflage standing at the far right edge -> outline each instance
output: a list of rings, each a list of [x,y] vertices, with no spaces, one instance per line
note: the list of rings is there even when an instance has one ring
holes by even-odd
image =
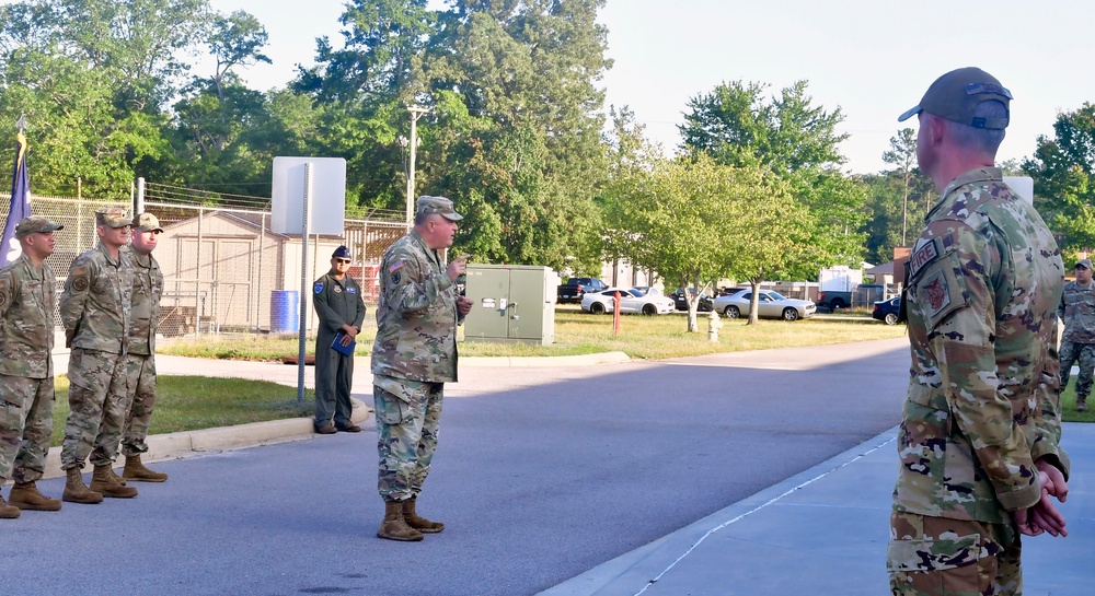
[[[1076,262],[1076,280],[1064,284],[1061,305],[1057,309],[1064,322],[1061,336],[1061,392],[1069,386],[1072,365],[1080,363],[1076,378],[1076,410],[1087,411],[1095,371],[1095,287],[1092,285],[1092,261]]]

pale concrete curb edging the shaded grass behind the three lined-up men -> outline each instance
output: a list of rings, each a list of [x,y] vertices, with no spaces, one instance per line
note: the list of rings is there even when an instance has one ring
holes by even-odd
[[[357,398],[350,398],[354,411],[350,421],[361,424],[372,418],[372,408]],[[287,420],[270,420],[267,422],[250,422],[234,426],[219,426],[200,431],[180,431],[166,434],[149,435],[148,453],[141,460],[145,463],[183,459],[206,453],[219,453],[247,447],[287,443],[320,436],[315,434],[311,418],[290,418]],[[125,457],[118,452],[114,467],[125,465]],[[87,464],[84,464],[87,468]],[[64,478],[61,469],[61,447],[50,447],[46,456],[46,469],[42,479]]]

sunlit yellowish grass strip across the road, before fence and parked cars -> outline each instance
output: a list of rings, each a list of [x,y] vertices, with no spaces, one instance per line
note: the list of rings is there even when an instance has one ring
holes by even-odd
[[[890,339],[903,337],[904,326],[887,326],[869,316],[848,320],[818,315],[793,323],[762,319],[757,325],[746,325],[742,319],[722,318],[718,342],[707,339],[707,315],[698,317],[700,332],[687,332],[683,314],[646,317],[621,317],[620,334],[613,332],[611,315],[590,315],[575,306],[555,309],[555,342],[552,346],[529,346],[464,341],[460,344],[462,357],[557,357],[620,351],[631,358],[660,360],[715,352],[766,350],[788,346],[823,346],[850,341]],[[368,355],[372,350],[376,329],[366,328],[358,336],[357,354]],[[315,340],[309,339],[308,353],[313,353]],[[159,353],[238,360],[277,361],[297,354],[296,338],[226,338],[216,340],[174,340],[162,342]]]

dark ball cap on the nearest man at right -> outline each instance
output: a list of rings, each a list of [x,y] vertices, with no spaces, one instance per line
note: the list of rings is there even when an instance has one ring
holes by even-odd
[[[924,93],[920,104],[900,115],[897,121],[903,122],[921,112],[926,112],[973,128],[995,130],[1007,128],[1010,116],[1003,118],[973,116],[978,104],[990,100],[1004,104],[1004,108],[1007,109],[1012,92],[1004,89],[995,77],[979,68],[960,68],[936,79],[932,86],[927,87],[927,93]]]

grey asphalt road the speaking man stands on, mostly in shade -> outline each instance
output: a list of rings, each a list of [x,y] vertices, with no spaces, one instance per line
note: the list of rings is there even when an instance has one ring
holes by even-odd
[[[894,426],[907,371],[902,340],[462,369],[419,500],[442,534],[377,539],[376,433],[339,433],[160,463],[171,479],[134,500],[4,521],[3,592],[531,595]]]

